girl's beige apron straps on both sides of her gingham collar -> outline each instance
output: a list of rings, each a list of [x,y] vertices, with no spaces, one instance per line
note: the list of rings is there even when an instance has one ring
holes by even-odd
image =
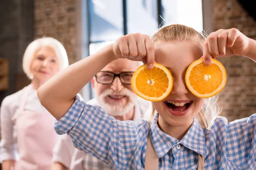
[[[154,146],[151,141],[150,125],[151,125],[151,122],[148,122],[148,140],[147,140],[144,170],[158,170],[159,158],[157,156],[157,152],[154,149]],[[199,153],[198,153],[198,170],[204,170],[204,156],[200,155]]]

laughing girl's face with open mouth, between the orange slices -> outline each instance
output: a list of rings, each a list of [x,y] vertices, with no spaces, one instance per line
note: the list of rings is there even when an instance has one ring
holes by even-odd
[[[194,96],[186,87],[185,74],[189,65],[203,55],[202,48],[195,42],[156,42],[155,60],[172,74],[173,88],[163,101],[153,102],[159,113],[158,121],[166,126],[189,127],[201,110],[204,99]]]

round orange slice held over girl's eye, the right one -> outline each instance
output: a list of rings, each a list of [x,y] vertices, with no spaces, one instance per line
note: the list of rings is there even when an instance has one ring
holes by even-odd
[[[198,59],[189,65],[185,75],[186,86],[192,94],[208,98],[218,94],[226,85],[227,74],[224,66],[217,59],[205,65]]]

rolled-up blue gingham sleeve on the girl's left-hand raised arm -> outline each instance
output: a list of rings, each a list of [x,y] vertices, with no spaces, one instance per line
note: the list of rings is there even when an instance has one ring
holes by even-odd
[[[99,106],[87,105],[77,96],[69,111],[55,122],[54,128],[59,134],[68,133],[79,150],[122,169],[136,150],[144,124],[143,119],[118,121]]]

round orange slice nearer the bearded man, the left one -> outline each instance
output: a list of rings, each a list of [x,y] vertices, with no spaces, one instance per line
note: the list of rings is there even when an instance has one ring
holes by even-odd
[[[140,66],[131,79],[134,93],[152,102],[165,99],[171,93],[172,86],[172,74],[158,63],[155,63],[152,69],[148,69],[147,64]]]

